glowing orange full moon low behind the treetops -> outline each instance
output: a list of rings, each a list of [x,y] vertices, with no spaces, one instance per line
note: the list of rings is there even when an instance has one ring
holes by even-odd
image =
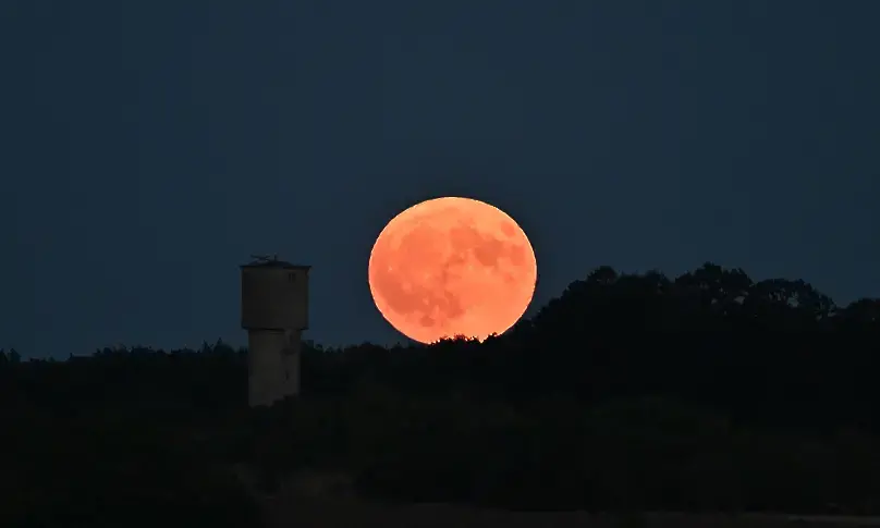
[[[436,198],[396,217],[369,257],[376,307],[420,343],[501,334],[535,293],[535,251],[504,211],[470,198]]]

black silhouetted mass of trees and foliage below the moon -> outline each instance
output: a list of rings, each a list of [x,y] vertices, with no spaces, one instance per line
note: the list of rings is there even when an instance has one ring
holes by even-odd
[[[241,464],[261,492],[308,468],[382,500],[878,513],[878,337],[880,299],[706,263],[599,268],[482,343],[307,346],[271,408],[219,341],[2,353],[0,524],[253,527]]]

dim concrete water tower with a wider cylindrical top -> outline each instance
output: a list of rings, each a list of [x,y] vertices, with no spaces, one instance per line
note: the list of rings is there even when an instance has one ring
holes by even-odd
[[[247,402],[257,407],[300,393],[310,267],[277,256],[253,258],[242,266],[242,328],[247,330]]]

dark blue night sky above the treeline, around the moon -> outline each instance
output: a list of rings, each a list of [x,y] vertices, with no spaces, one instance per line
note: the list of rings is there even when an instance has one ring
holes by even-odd
[[[386,221],[440,195],[533,238],[533,309],[705,260],[880,296],[880,2],[0,2],[0,346],[242,343],[252,253],[374,308]]]

